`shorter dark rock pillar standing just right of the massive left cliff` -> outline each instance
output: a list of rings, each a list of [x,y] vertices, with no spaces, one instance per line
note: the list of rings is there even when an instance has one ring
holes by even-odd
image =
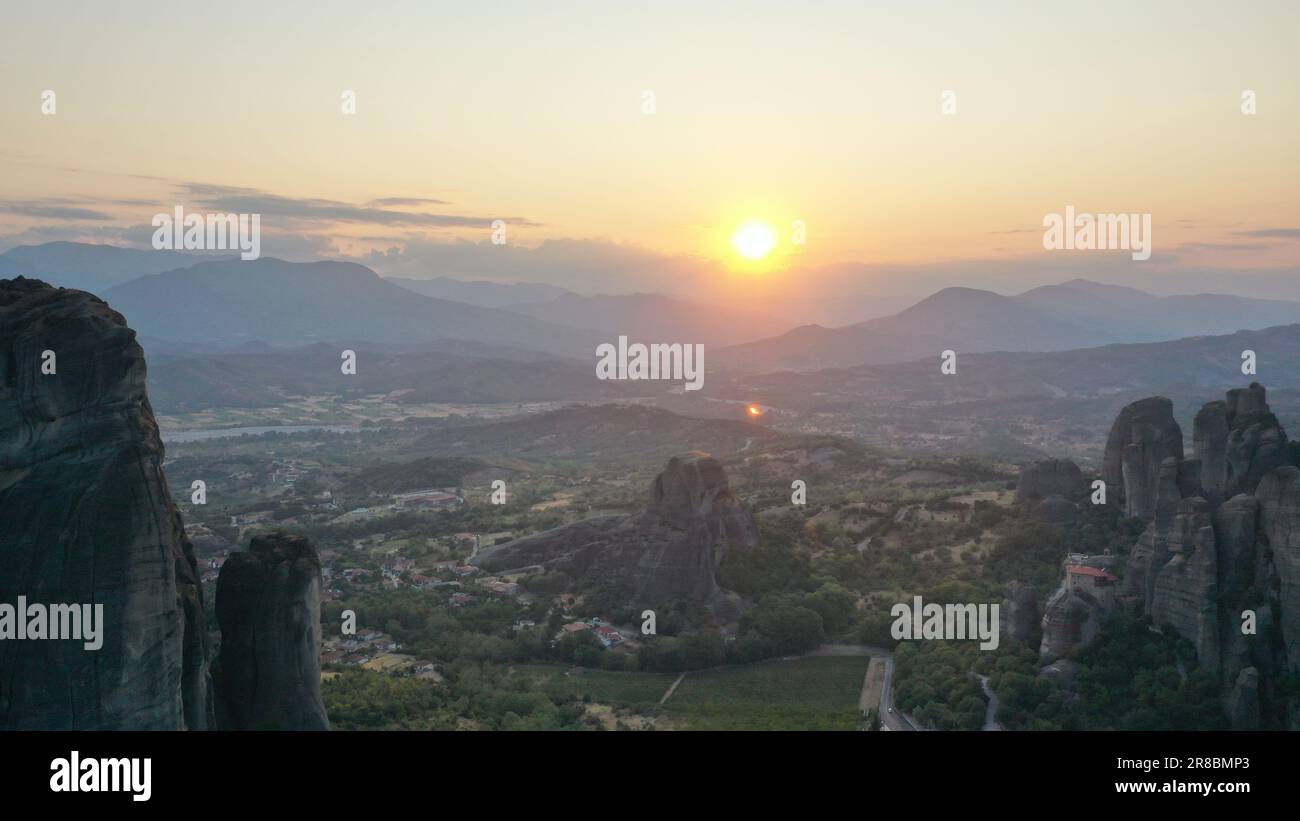
[[[328,730],[320,690],[321,564],[303,537],[272,533],[233,553],[217,578],[217,724]]]

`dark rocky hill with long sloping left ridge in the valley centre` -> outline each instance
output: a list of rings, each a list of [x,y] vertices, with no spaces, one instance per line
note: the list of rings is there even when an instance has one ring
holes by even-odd
[[[719,621],[738,599],[718,585],[727,551],[758,544],[754,520],[722,464],[707,453],[673,456],[651,485],[644,513],[589,518],[484,549],[473,564],[491,572],[542,566],[625,591],[632,607],[686,599]]]

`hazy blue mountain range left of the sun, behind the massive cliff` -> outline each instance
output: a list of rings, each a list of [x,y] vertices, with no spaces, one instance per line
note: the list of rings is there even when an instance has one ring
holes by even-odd
[[[438,340],[445,348],[459,339],[589,360],[599,343],[619,335],[727,346],[789,327],[764,314],[655,294],[580,296],[540,283],[385,279],[352,262],[239,261],[79,243],[0,255],[0,277],[17,275],[101,296],[129,318],[151,355],[203,356],[250,342]]]

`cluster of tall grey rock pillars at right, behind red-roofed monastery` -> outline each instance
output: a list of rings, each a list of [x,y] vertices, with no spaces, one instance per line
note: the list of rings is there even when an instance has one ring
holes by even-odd
[[[1196,646],[1234,727],[1295,724],[1271,681],[1300,672],[1300,470],[1286,464],[1286,433],[1257,383],[1201,408],[1195,459],[1182,459],[1175,431],[1169,400],[1145,399],[1121,412],[1106,443],[1126,514],[1148,522],[1123,600]],[[1066,604],[1049,601],[1044,652],[1087,642]]]

